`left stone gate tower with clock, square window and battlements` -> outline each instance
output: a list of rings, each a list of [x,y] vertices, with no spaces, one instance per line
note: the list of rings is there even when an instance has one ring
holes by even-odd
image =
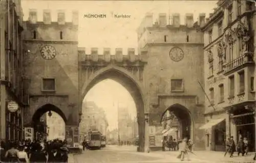
[[[66,22],[63,10],[58,10],[57,22],[50,10],[43,10],[42,21],[37,21],[37,14],[30,9],[29,20],[24,21],[23,80],[28,95],[24,125],[36,129],[42,114],[55,111],[66,123],[66,136],[75,140],[78,130],[70,126],[79,123],[78,12],[72,12],[72,22]]]

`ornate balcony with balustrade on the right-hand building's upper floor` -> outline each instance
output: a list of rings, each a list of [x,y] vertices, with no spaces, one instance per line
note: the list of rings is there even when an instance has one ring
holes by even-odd
[[[224,75],[228,75],[232,73],[233,71],[237,71],[238,69],[248,66],[248,65],[253,65],[254,61],[252,59],[252,55],[249,52],[245,52],[244,55],[228,62],[225,63],[224,66]]]

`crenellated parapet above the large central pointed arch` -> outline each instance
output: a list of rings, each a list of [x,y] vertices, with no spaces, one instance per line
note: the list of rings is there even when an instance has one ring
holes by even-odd
[[[122,48],[116,48],[115,54],[111,54],[110,48],[104,48],[103,54],[99,54],[98,48],[91,48],[91,53],[86,54],[85,48],[78,48],[78,54],[80,55],[80,61],[98,64],[109,64],[109,63],[118,63],[120,65],[132,65],[132,64],[145,64],[147,62],[147,52],[141,51],[140,54],[135,54],[134,48],[127,49],[127,55],[123,55]]]

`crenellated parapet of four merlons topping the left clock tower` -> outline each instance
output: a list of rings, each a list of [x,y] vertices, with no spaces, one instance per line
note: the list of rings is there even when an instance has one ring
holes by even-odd
[[[42,21],[38,21],[38,11],[37,9],[29,9],[28,21],[30,24],[38,24],[38,22],[43,22],[44,24],[50,25],[52,21],[52,13],[49,9],[42,10]],[[66,22],[72,22],[73,25],[78,25],[78,11],[72,11],[72,20],[66,21],[66,10],[57,10],[57,23],[58,25],[65,25]]]

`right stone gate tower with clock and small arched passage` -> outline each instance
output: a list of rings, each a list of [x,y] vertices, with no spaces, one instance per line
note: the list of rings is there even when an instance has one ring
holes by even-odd
[[[194,22],[194,15],[187,13],[184,24],[179,13],[172,14],[169,23],[166,15],[160,13],[153,24],[153,14],[147,13],[138,28],[139,53],[147,51],[148,55],[143,72],[149,114],[146,130],[150,131],[147,138],[151,138],[147,141],[151,141],[152,148],[162,146],[158,130],[163,114],[173,111],[182,124],[179,128],[182,135],[178,138],[189,137],[196,149],[204,149],[204,132],[198,127],[204,124],[205,97],[200,86],[204,85],[204,51],[199,26],[205,14],[200,14],[199,21]]]

